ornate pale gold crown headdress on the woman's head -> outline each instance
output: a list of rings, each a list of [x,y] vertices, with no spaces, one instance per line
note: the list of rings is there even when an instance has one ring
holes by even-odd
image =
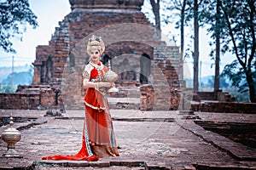
[[[96,35],[92,35],[92,37],[89,38],[89,42],[87,44],[87,54],[90,55],[90,51],[92,49],[99,50],[100,54],[102,54],[105,51],[105,44],[102,41],[102,37],[97,37]]]

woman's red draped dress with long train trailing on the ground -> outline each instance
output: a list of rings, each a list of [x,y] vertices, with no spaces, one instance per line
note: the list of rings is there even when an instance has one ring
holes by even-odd
[[[107,71],[108,67],[104,66],[101,73]],[[90,79],[98,76],[95,68],[90,71]],[[84,95],[84,102],[87,105],[85,104],[82,147],[79,153],[69,156],[44,156],[43,160],[97,161],[99,156],[96,156],[92,149],[101,156],[119,156],[107,98],[95,88],[88,88]]]

